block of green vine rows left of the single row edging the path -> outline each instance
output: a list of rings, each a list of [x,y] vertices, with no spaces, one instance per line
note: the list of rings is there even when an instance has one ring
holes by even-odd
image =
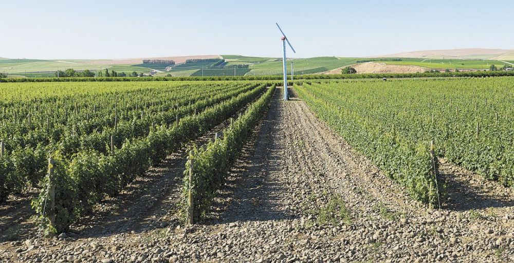
[[[42,213],[52,185],[51,231],[67,231],[104,195],[183,143],[205,133],[258,98],[259,83],[59,85],[4,88],[0,197],[41,187]],[[157,84],[157,83],[156,83]],[[23,93],[23,96],[21,95]],[[51,157],[55,171],[45,177]],[[109,176],[105,176],[109,175]],[[46,187],[45,187],[46,186]]]

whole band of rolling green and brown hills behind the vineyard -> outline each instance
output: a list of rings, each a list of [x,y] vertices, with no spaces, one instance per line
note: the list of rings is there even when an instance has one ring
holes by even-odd
[[[444,59],[443,59],[444,58]],[[143,63],[144,59],[173,60],[175,65],[167,63]],[[188,60],[190,60],[188,62]],[[291,73],[291,64],[295,74],[339,73],[349,65],[367,63],[361,72],[412,70],[487,70],[490,65],[497,68],[514,61],[514,49],[440,49],[424,50],[379,55],[369,58],[289,58],[287,72]],[[375,65],[375,64],[380,65]],[[405,67],[402,67],[405,66]],[[409,67],[416,67],[415,69]],[[282,59],[267,57],[248,57],[243,55],[192,55],[180,57],[133,58],[133,59],[9,59],[0,58],[0,72],[11,76],[51,77],[56,70],[73,68],[81,70],[115,70],[129,74],[158,72],[156,76],[260,76],[282,74]],[[201,70],[201,71],[200,71]],[[410,71],[409,71],[410,70]],[[358,71],[359,72],[359,71]]]

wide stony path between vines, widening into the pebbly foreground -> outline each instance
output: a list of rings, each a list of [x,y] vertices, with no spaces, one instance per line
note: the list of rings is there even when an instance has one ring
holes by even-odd
[[[510,189],[445,163],[451,199],[441,210],[427,209],[304,102],[283,102],[281,93],[200,224],[185,229],[174,218],[181,184],[171,183],[143,213],[149,220],[126,218],[120,229],[99,220],[96,228],[105,228],[99,236],[83,229],[64,240],[2,243],[0,256],[21,262],[514,260]],[[144,224],[135,227],[133,220]]]

